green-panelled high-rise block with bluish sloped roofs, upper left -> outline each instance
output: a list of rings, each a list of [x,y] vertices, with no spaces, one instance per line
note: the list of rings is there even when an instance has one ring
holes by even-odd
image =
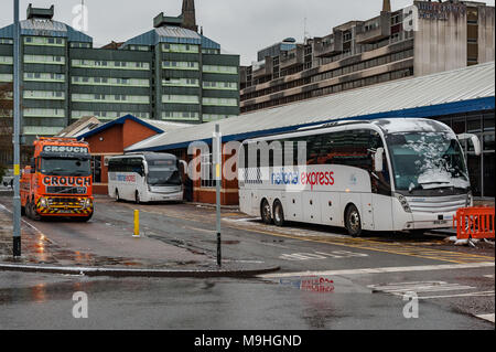
[[[193,0],[179,17],[95,49],[93,39],[53,20],[54,7],[28,8],[21,26],[22,125],[26,143],[83,116],[200,124],[239,115],[239,56],[197,32]],[[0,29],[0,85],[12,82],[13,24]]]

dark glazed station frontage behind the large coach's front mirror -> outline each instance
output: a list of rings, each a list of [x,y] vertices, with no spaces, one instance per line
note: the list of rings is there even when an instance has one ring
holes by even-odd
[[[482,113],[460,114],[433,119],[450,126],[455,134],[474,134],[481,140],[483,153],[477,157],[470,142],[462,146],[467,154],[468,175],[472,191],[477,198],[494,198],[495,180],[495,130],[494,110]]]

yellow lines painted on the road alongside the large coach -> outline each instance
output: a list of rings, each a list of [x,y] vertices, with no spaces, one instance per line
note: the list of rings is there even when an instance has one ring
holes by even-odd
[[[245,230],[255,233],[266,234],[276,237],[306,241],[306,242],[315,242],[323,243],[328,245],[336,246],[345,246],[351,248],[359,248],[365,250],[373,252],[384,252],[388,254],[396,255],[405,255],[410,257],[418,257],[424,259],[432,259],[439,262],[448,262],[455,264],[470,264],[470,263],[485,263],[485,262],[494,262],[494,257],[489,256],[481,256],[475,254],[460,253],[460,252],[451,252],[444,249],[434,249],[434,248],[422,248],[416,247],[409,244],[403,243],[387,243],[379,242],[369,238],[353,238],[344,235],[298,235],[298,234],[289,234],[281,233],[281,228],[277,228],[278,232],[269,231],[269,230],[260,230],[255,226],[242,226],[239,225],[239,222],[223,218],[223,221],[228,222],[229,227],[234,227],[237,230]],[[319,233],[316,233],[319,234]]]

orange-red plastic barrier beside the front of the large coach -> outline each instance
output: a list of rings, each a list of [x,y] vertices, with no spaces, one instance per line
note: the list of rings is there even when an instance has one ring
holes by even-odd
[[[459,239],[494,238],[494,206],[459,209],[453,216],[453,227]]]

